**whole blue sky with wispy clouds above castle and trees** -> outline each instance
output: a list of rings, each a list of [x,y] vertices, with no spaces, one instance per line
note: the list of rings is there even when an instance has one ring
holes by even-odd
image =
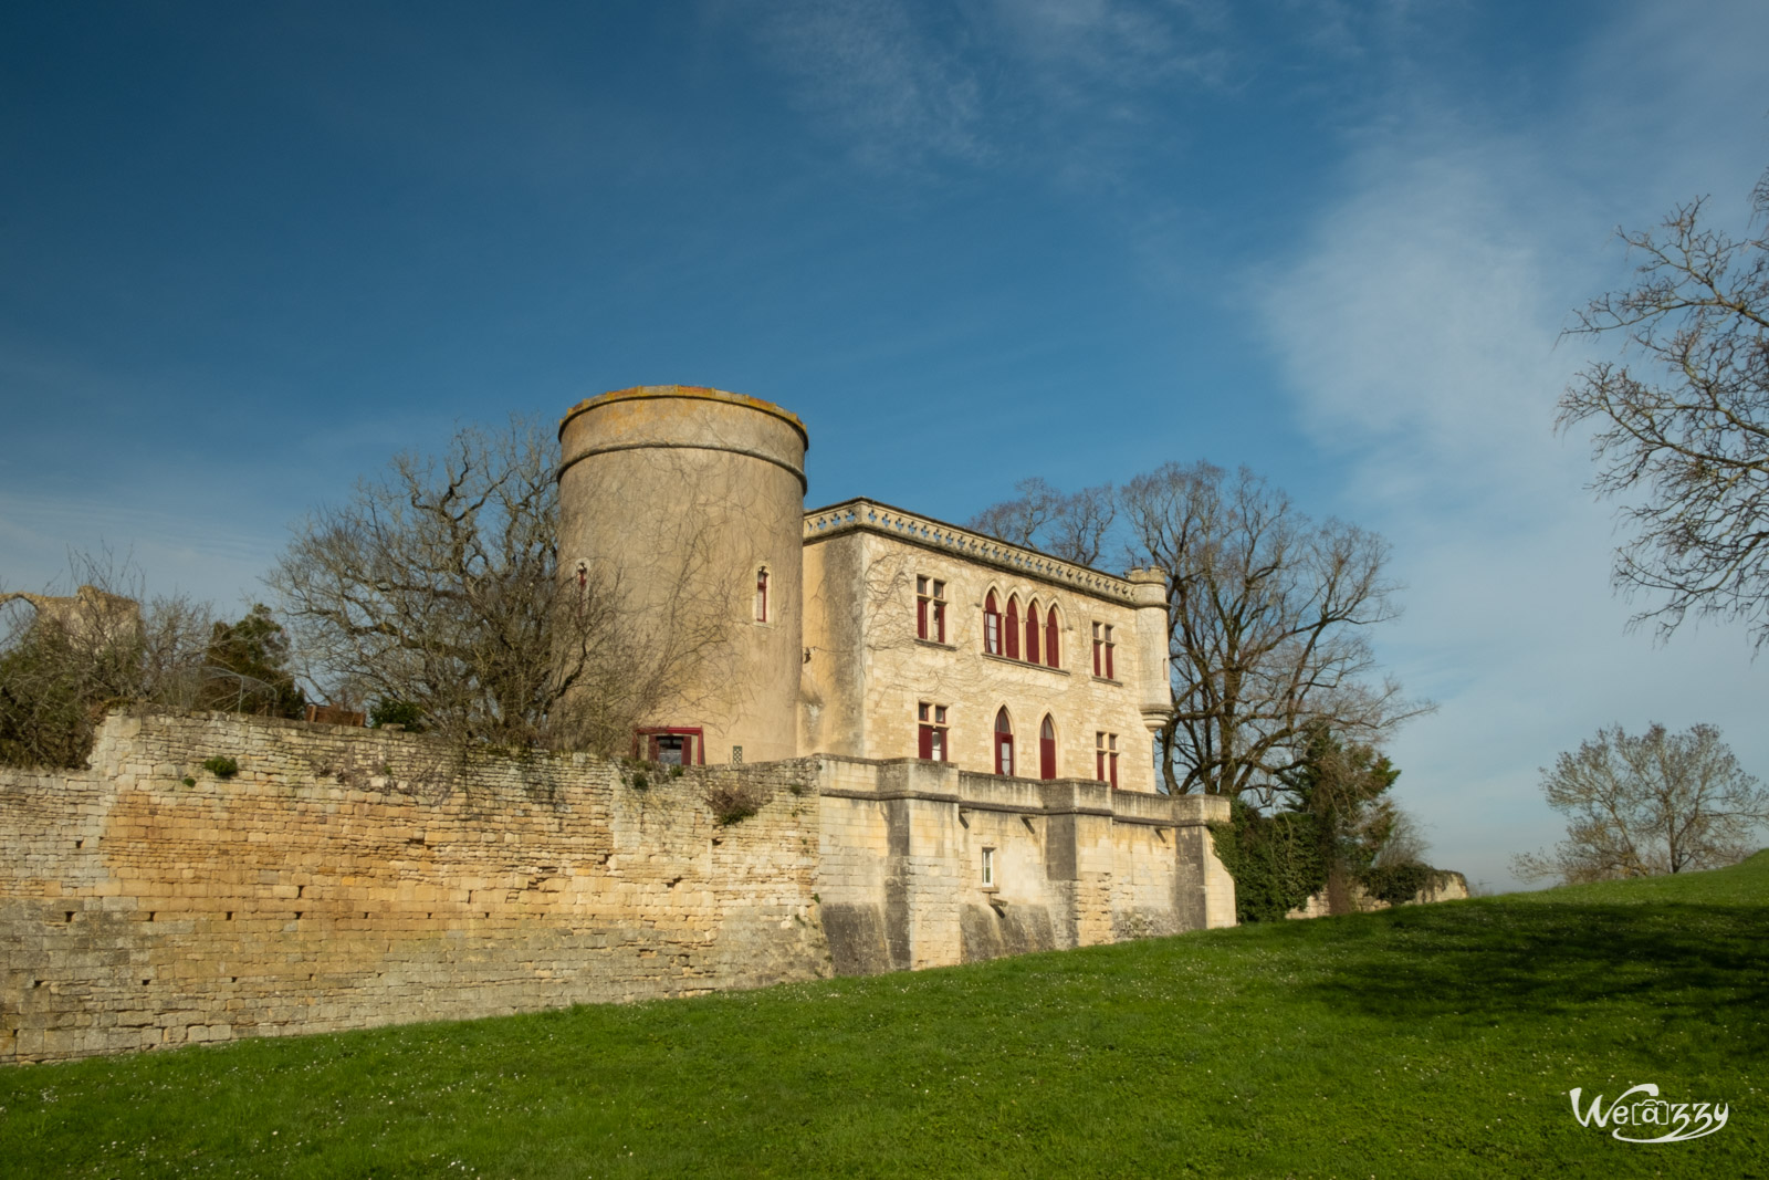
[[[798,412],[812,504],[1247,464],[1394,543],[1399,793],[1507,888],[1597,725],[1769,777],[1551,432],[1612,230],[1742,225],[1764,60],[1760,0],[9,5],[0,586],[232,607],[391,453],[644,382]]]

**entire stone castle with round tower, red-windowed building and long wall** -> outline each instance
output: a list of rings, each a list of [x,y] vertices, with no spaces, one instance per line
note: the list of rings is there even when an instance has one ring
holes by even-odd
[[[807,513],[803,423],[731,393],[559,437],[566,577],[704,656],[642,761],[113,711],[85,770],[0,768],[0,1061],[1233,925],[1226,800],[1153,791],[1159,571]]]

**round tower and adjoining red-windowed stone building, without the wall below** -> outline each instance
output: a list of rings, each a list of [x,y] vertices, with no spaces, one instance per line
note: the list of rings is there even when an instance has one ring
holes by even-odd
[[[559,441],[561,564],[621,582],[658,642],[695,610],[729,624],[727,658],[658,706],[637,754],[1155,789],[1173,706],[1159,570],[1113,577],[867,499],[805,511],[805,425],[718,389],[605,393]]]

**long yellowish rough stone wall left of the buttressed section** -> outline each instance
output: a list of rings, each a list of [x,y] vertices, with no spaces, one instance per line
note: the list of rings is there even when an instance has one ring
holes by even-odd
[[[814,766],[720,826],[729,768],[111,715],[90,771],[0,771],[0,1060],[826,975]]]

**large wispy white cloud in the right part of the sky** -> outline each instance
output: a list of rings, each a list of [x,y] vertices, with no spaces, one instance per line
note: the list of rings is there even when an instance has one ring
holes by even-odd
[[[1769,775],[1742,632],[1654,646],[1626,630],[1612,510],[1585,490],[1580,441],[1551,432],[1567,377],[1608,345],[1558,341],[1571,308],[1626,280],[1608,230],[1721,184],[1742,203],[1762,168],[1762,111],[1737,106],[1760,62],[1709,48],[1719,18],[1735,18],[1721,41],[1757,46],[1769,21],[1758,5],[1707,16],[1619,14],[1523,129],[1398,94],[1413,115],[1366,134],[1344,195],[1260,285],[1297,412],[1352,472],[1346,511],[1389,534],[1410,584],[1385,651],[1442,709],[1396,743],[1405,794],[1440,863],[1495,885],[1512,885],[1509,853],[1560,831],[1537,768],[1597,725],[1714,722]]]

